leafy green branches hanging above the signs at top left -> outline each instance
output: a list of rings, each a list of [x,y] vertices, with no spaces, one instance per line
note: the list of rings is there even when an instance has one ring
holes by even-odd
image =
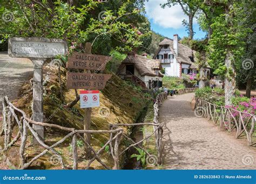
[[[84,51],[84,43],[92,42],[93,53],[105,55],[112,49],[129,52],[144,48],[151,40],[150,23],[144,9],[138,9],[143,3],[135,2],[3,2],[1,15],[11,12],[14,20],[0,20],[0,40],[16,36],[60,38],[68,41],[70,51]]]

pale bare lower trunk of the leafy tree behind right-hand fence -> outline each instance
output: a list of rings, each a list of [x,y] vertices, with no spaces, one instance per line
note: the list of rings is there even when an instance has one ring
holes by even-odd
[[[227,72],[225,76],[225,105],[231,105],[231,98],[235,93],[235,69],[232,64],[232,56],[231,52],[227,52],[225,59],[225,66],[227,67]],[[231,76],[232,74],[232,76]]]

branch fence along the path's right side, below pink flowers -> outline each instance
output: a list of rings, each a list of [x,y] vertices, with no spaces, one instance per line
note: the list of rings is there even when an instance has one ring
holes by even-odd
[[[253,135],[255,134],[255,115],[218,106],[199,98],[196,98],[195,115],[212,120],[214,124],[219,123],[220,128],[224,128],[228,132],[236,129],[235,138],[242,137],[243,133],[245,133],[248,146],[256,145],[256,142],[253,141]],[[256,138],[255,135],[254,137]]]

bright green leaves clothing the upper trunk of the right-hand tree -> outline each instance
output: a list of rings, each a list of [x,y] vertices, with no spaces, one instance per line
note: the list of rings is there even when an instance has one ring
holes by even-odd
[[[227,4],[230,5],[230,4]],[[237,65],[245,53],[245,39],[252,30],[248,25],[241,24],[247,12],[241,9],[242,2],[234,2],[228,12],[223,12],[212,19],[213,33],[209,41],[208,62],[220,76],[232,77],[233,72],[225,66],[226,54],[232,53],[232,63]],[[238,64],[239,66],[240,64]]]

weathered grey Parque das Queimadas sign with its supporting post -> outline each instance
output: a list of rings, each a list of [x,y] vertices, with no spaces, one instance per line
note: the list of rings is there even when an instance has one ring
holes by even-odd
[[[33,74],[33,121],[43,122],[43,65],[46,59],[55,58],[68,52],[68,46],[61,39],[46,38],[10,38],[8,40],[8,54],[14,58],[29,58],[34,65]],[[33,124],[33,129],[44,140],[44,127]],[[34,144],[38,144],[33,139]]]

